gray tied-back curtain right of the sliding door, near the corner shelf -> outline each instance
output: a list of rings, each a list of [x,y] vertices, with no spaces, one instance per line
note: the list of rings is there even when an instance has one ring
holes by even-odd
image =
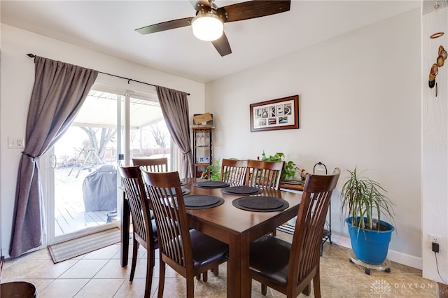
[[[193,153],[190,145],[187,94],[160,86],[157,86],[156,89],[169,133],[183,153],[183,172],[180,176],[184,178],[193,177]]]

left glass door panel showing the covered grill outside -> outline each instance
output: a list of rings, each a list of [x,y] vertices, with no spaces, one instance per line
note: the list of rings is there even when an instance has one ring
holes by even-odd
[[[91,91],[54,147],[54,240],[119,219],[117,108],[121,96]],[[50,219],[50,218],[49,218]]]

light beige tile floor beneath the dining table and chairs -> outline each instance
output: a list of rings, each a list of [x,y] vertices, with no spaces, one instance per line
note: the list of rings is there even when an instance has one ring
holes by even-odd
[[[283,239],[290,235],[277,233]],[[132,249],[130,250],[132,252]],[[325,243],[321,257],[322,297],[437,297],[437,283],[421,278],[421,271],[392,262],[391,272],[372,270],[365,274],[349,262],[348,249]],[[157,252],[156,252],[157,255]],[[120,245],[108,246],[53,264],[47,249],[6,260],[1,282],[30,281],[38,289],[39,298],[68,297],[143,297],[146,274],[146,250],[139,250],[134,281],[130,283],[130,266],[120,266]],[[221,264],[219,276],[209,273],[207,283],[195,279],[195,297],[226,297],[226,266]],[[157,297],[158,261],[154,269],[151,297]],[[164,297],[185,297],[186,283],[182,276],[167,269]],[[260,283],[253,282],[252,297],[263,297]],[[266,297],[284,297],[268,288]],[[306,297],[300,295],[299,297]],[[311,291],[310,297],[314,297]]]

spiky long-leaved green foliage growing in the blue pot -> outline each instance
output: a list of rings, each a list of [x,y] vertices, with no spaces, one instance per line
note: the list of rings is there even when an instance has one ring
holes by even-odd
[[[384,230],[385,227],[379,225],[381,215],[386,215],[389,220],[394,221],[395,204],[383,194],[386,190],[379,183],[360,176],[363,172],[358,174],[356,167],[349,173],[350,177],[346,179],[341,190],[342,213],[351,217],[351,224],[358,228],[358,232],[360,229]]]

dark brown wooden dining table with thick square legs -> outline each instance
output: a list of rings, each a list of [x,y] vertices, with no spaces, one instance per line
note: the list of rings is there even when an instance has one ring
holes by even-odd
[[[232,201],[247,195],[227,194],[221,188],[196,187],[195,183],[205,181],[200,178],[187,178],[185,181],[183,188],[190,190],[186,197],[207,194],[224,199],[222,205],[213,208],[187,209],[189,224],[204,234],[228,243],[227,297],[251,297],[249,245],[297,215],[301,194],[286,190],[263,190],[257,195],[284,199],[289,204],[288,208],[272,212],[246,211],[233,206]],[[122,204],[121,264],[125,267],[129,251],[130,209],[124,194]]]

